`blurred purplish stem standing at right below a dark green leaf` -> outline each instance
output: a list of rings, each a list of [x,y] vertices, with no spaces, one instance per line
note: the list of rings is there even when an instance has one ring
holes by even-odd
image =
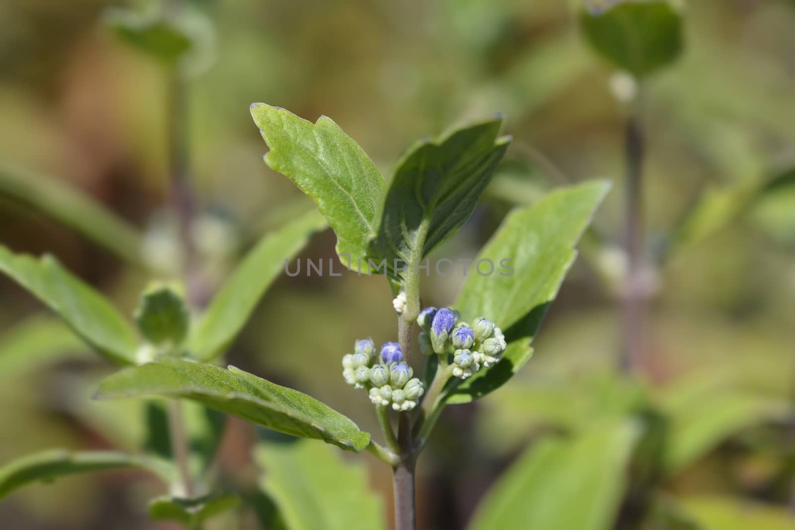
[[[643,255],[642,171],[643,131],[637,110],[632,110],[625,129],[626,151],[626,225],[624,250],[626,273],[622,287],[622,344],[620,365],[625,371],[642,365],[643,336],[646,323],[647,288]]]

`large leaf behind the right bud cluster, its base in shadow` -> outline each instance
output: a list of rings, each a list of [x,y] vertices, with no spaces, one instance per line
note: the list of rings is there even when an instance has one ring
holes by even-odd
[[[553,191],[533,206],[512,211],[483,247],[475,265],[491,260],[499,271],[510,260],[513,273],[470,274],[456,309],[467,322],[477,316],[494,321],[505,332],[508,348],[491,369],[480,370],[453,387],[448,403],[483,397],[529,360],[533,354],[529,343],[574,262],[574,246],[609,188],[606,182],[591,182]]]

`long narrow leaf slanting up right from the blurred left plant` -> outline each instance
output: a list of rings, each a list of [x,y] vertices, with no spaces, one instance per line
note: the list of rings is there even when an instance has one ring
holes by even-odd
[[[285,261],[325,227],[316,211],[283,226],[246,255],[211,301],[188,339],[188,350],[203,361],[223,354],[246,323],[262,294],[285,268]]]

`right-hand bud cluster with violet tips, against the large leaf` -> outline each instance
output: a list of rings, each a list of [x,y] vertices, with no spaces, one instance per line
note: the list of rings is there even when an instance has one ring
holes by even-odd
[[[479,316],[471,326],[460,320],[458,311],[446,308],[425,308],[417,318],[424,330],[419,339],[422,353],[447,355],[452,346],[452,374],[466,379],[481,366],[497,364],[507,344],[505,335],[490,320]]]

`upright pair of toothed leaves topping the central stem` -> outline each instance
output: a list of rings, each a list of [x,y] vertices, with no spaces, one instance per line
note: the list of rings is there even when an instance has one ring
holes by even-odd
[[[498,137],[502,118],[495,117],[417,142],[386,187],[364,150],[330,118],[312,124],[265,103],[254,103],[251,114],[270,146],[266,164],[317,203],[343,265],[391,277],[463,226],[510,141]]]

